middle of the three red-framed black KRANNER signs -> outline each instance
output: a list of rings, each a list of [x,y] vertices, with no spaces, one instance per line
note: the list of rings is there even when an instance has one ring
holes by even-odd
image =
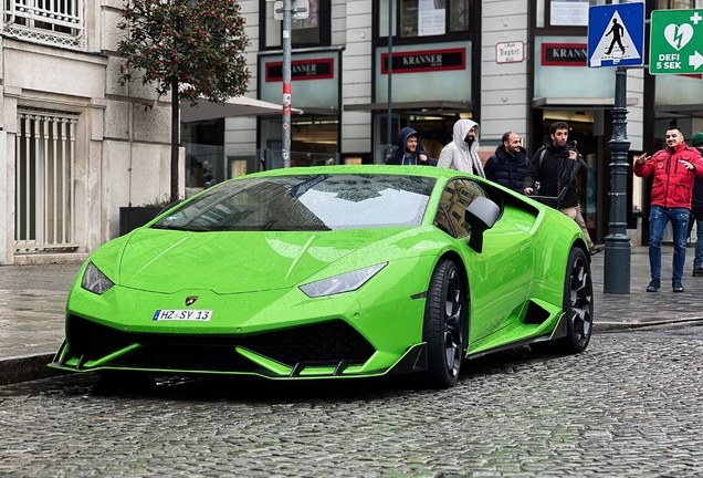
[[[466,69],[466,49],[394,52],[392,73]],[[381,54],[381,74],[388,74],[388,53]]]

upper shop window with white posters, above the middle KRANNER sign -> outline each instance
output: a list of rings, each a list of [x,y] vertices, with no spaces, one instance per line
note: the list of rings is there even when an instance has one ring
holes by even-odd
[[[379,37],[388,37],[389,0],[378,2]],[[469,32],[470,0],[390,0],[394,37],[415,38]],[[398,14],[396,14],[398,12]]]

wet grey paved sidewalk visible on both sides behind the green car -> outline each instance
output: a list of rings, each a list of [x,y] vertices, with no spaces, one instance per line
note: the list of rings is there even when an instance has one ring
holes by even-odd
[[[594,257],[596,332],[641,324],[703,319],[703,278],[691,277],[693,249],[689,248],[683,284],[674,294],[672,248],[663,247],[663,288],[647,293],[649,259],[646,247],[633,247],[630,259],[630,293],[604,293],[606,253]],[[81,264],[0,267],[0,384],[53,375],[45,364],[64,337],[65,300]]]

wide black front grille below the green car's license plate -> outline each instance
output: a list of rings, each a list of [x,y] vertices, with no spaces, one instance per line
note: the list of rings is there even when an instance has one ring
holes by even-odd
[[[147,356],[151,357],[149,363],[156,361],[156,357],[162,357],[158,360],[160,363],[168,361],[169,356],[174,358],[183,354],[195,354],[195,361],[221,356],[223,353],[229,355],[232,351],[224,347],[233,346],[252,350],[288,366],[297,363],[335,365],[342,361],[361,364],[375,352],[371,344],[343,320],[248,335],[193,335],[125,332],[71,315],[67,320],[66,337],[72,356],[97,360],[138,343],[144,347],[135,353],[144,360]],[[191,363],[190,367],[192,366],[198,364]]]

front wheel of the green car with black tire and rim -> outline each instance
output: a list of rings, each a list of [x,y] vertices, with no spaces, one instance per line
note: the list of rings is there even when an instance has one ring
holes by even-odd
[[[466,288],[457,266],[443,259],[432,272],[424,305],[422,340],[427,343],[426,382],[433,388],[457,384],[466,351]]]

